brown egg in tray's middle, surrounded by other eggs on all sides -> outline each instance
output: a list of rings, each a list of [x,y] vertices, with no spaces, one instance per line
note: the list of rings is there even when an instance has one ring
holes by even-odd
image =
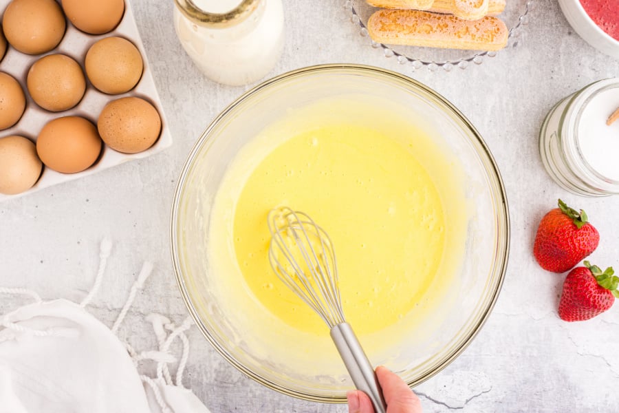
[[[71,109],[86,91],[82,68],[64,54],[50,54],[34,62],[27,83],[36,104],[52,112]]]

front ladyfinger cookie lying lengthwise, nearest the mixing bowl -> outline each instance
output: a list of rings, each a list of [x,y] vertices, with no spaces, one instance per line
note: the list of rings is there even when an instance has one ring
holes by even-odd
[[[419,10],[378,10],[367,31],[373,41],[390,45],[500,50],[508,41],[508,29],[497,17],[470,21]]]

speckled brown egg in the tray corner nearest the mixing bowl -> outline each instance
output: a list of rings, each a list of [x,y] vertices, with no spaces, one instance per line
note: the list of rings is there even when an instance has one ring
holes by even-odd
[[[105,105],[97,127],[111,149],[137,153],[149,149],[159,138],[161,118],[157,109],[142,98],[120,98]]]

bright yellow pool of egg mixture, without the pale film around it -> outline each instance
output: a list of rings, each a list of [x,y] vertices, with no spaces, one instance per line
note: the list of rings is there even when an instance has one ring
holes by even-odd
[[[445,244],[441,200],[411,148],[389,136],[354,125],[305,131],[252,171],[237,202],[235,252],[252,292],[286,323],[325,334],[267,259],[268,211],[283,205],[332,238],[343,308],[358,334],[402,319],[432,284]]]

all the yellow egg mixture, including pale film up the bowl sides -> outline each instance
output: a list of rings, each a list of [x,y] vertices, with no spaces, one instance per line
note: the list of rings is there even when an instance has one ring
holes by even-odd
[[[270,267],[272,208],[303,211],[327,231],[347,321],[360,337],[378,334],[378,343],[386,328],[410,332],[457,290],[466,233],[458,165],[431,136],[393,115],[364,123],[364,116],[353,121],[340,113],[363,113],[367,105],[316,107],[289,115],[241,149],[215,197],[210,229],[215,265],[233,255],[234,265],[221,272],[247,290],[246,299],[303,335],[305,352],[312,352],[311,337],[328,337],[329,329]],[[251,324],[256,310],[245,305],[235,304]],[[266,334],[261,328],[257,334]]]

